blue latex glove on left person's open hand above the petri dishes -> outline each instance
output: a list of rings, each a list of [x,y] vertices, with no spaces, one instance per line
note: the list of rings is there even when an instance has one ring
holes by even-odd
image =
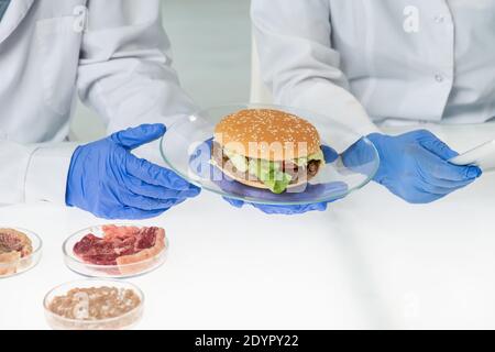
[[[67,176],[67,206],[106,219],[145,219],[197,196],[198,187],[131,154],[165,131],[163,124],[143,124],[79,146]]]

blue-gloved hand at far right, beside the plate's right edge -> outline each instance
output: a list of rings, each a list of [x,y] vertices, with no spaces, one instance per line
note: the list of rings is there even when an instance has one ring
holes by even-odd
[[[459,154],[435,134],[418,130],[398,136],[373,133],[381,164],[374,180],[411,204],[428,204],[468,186],[481,176],[477,166],[455,166]],[[359,142],[353,147],[359,153]],[[344,163],[352,153],[344,155]]]

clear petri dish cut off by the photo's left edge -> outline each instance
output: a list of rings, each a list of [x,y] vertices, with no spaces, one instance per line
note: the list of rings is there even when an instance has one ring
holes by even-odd
[[[40,263],[42,256],[43,241],[36,233],[22,228],[12,228],[12,227],[0,227],[0,228],[12,229],[24,233],[30,239],[31,245],[33,248],[32,253],[24,257],[21,257],[14,262],[0,263],[0,279],[25,273],[29,270],[36,266],[37,263]]]

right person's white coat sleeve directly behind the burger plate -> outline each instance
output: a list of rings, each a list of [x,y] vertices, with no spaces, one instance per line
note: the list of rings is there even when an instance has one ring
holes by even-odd
[[[361,135],[378,132],[332,48],[329,0],[253,0],[263,81],[276,103],[332,117]]]

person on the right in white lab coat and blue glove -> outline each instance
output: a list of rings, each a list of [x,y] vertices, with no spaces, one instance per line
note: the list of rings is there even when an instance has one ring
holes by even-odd
[[[458,153],[432,133],[378,125],[495,117],[495,0],[253,0],[252,21],[275,101],[367,135],[381,156],[375,182],[426,204],[480,177],[450,164]]]

